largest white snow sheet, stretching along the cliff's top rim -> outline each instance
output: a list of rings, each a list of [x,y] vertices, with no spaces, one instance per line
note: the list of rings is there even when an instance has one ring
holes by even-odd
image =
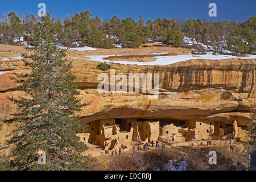
[[[238,57],[238,56],[232,56],[232,55],[212,55],[212,52],[208,52],[205,55],[177,55],[177,56],[155,56],[155,61],[150,62],[135,62],[135,61],[110,61],[105,60],[103,58],[109,57],[109,56],[115,56],[115,55],[99,55],[99,56],[86,56],[90,57],[89,60],[92,61],[100,61],[100,62],[112,62],[112,63],[119,63],[119,64],[136,64],[136,65],[168,65],[168,64],[174,64],[181,61],[187,61],[187,60],[195,60],[195,59],[208,59],[208,60],[222,60],[222,59],[256,59],[256,55],[247,55],[245,57]]]

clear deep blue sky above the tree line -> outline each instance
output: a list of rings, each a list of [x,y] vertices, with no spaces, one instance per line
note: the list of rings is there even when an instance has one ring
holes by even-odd
[[[0,13],[14,11],[18,15],[38,13],[38,4],[45,3],[47,11],[53,17],[73,15],[80,11],[90,11],[93,17],[119,18],[130,17],[135,20],[143,16],[144,20],[156,18],[172,19],[172,16],[181,16],[183,20],[207,19],[212,21],[228,20],[245,21],[256,16],[255,0],[9,0],[1,1]],[[217,16],[210,17],[209,3],[216,3]]]

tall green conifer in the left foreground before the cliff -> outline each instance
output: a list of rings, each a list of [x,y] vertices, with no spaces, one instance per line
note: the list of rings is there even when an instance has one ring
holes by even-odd
[[[9,98],[18,105],[20,112],[6,123],[17,123],[7,140],[14,146],[13,164],[18,170],[80,170],[90,168],[89,156],[77,137],[85,131],[77,114],[81,104],[77,99],[72,75],[72,63],[65,58],[65,50],[56,45],[56,29],[50,15],[40,18],[35,26],[34,39],[29,43],[34,53],[23,54],[24,65],[31,73],[16,74],[27,97]],[[39,164],[40,151],[46,154],[46,164]],[[41,152],[41,154],[43,154]]]

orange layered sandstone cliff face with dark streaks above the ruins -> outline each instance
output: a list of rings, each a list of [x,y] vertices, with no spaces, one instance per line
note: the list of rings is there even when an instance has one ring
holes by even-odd
[[[123,65],[112,64],[115,74],[159,73],[159,96],[150,100],[142,93],[99,93],[97,77],[101,71],[99,62],[72,60],[73,73],[80,86],[81,101],[92,102],[81,111],[81,122],[98,119],[137,118],[165,122],[185,122],[203,119],[215,123],[234,125],[237,137],[242,137],[250,120],[250,111],[256,101],[255,59],[189,60],[171,65]],[[7,96],[23,96],[20,85],[10,80],[13,73],[29,73],[22,60],[0,62],[0,119],[18,112]],[[117,82],[116,82],[117,84]],[[0,143],[6,140],[13,125],[3,126]]]

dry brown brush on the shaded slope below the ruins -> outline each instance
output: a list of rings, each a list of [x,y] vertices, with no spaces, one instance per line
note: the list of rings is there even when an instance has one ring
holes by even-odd
[[[217,164],[209,164],[209,151],[217,154]],[[108,170],[112,171],[145,171],[154,167],[163,169],[169,160],[179,163],[185,157],[188,171],[236,171],[245,170],[246,158],[242,154],[236,154],[226,150],[225,147],[179,147],[166,148],[164,150],[135,151],[121,156],[113,156],[109,162]]]

